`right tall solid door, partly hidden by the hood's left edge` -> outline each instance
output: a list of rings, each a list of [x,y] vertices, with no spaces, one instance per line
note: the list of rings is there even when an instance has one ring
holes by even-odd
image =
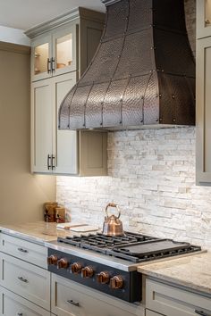
[[[78,173],[78,133],[73,130],[58,129],[58,111],[64,96],[76,83],[76,72],[68,73],[54,79],[55,95],[55,172],[65,174]]]

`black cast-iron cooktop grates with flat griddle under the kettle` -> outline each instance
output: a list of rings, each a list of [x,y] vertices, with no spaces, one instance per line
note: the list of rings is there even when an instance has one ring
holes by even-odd
[[[146,235],[125,232],[123,236],[109,237],[103,234],[81,235],[80,237],[58,237],[58,242],[75,245],[97,253],[122,258],[130,262],[148,262],[178,254],[190,254],[201,248],[189,243],[175,242]]]

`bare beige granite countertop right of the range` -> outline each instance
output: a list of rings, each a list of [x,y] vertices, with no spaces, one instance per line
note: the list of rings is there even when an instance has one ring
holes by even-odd
[[[211,252],[142,265],[138,271],[211,295]]]

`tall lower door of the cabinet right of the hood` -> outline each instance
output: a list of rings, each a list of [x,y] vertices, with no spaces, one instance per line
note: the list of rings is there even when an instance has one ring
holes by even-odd
[[[211,184],[211,37],[197,41],[197,183]]]

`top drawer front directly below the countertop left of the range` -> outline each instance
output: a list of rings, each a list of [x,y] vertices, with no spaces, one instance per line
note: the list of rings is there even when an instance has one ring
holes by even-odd
[[[45,246],[36,245],[29,241],[5,234],[0,234],[0,238],[0,251],[3,253],[11,254],[16,258],[47,269],[47,249]]]

